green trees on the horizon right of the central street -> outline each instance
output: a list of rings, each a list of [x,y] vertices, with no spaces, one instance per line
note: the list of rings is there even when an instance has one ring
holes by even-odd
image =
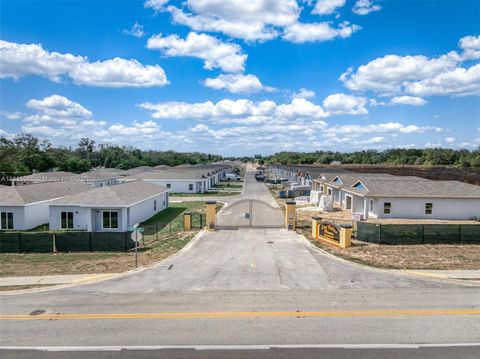
[[[335,161],[354,164],[394,164],[426,166],[458,166],[480,168],[480,147],[476,150],[454,150],[450,148],[390,149],[385,151],[357,151],[350,153],[278,152],[263,158],[265,162],[277,164],[329,164]]]

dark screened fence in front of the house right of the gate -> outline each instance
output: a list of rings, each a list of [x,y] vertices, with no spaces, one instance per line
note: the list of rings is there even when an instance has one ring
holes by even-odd
[[[357,222],[356,237],[378,244],[480,244],[480,225]]]

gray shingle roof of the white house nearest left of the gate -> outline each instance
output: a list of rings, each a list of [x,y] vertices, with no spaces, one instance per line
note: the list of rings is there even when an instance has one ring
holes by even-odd
[[[77,205],[82,207],[128,207],[164,192],[168,192],[168,189],[138,180],[114,186],[98,187],[84,193],[60,198],[52,202],[52,204]]]

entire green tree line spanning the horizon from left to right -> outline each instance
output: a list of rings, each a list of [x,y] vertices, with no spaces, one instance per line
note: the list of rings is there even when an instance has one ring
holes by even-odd
[[[142,151],[127,146],[96,144],[83,138],[76,148],[54,147],[47,140],[29,134],[13,139],[0,137],[0,172],[30,173],[58,169],[69,172],[85,172],[93,167],[129,169],[138,166],[197,164],[220,161],[222,156],[175,151]],[[390,149],[385,151],[357,151],[351,153],[278,152],[263,157],[236,157],[241,161],[261,161],[277,164],[329,164],[334,161],[354,164],[430,165],[480,168],[480,147],[476,150],[449,148]]]

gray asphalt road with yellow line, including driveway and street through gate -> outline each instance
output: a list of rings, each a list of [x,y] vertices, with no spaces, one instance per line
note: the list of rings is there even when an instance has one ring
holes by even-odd
[[[243,199],[274,205],[250,173],[246,181]],[[3,347],[480,342],[478,285],[419,279],[348,263],[284,229],[206,233],[178,255],[129,275],[1,295],[0,313]],[[157,356],[165,353],[165,349],[152,350]],[[191,357],[192,349],[184,350],[184,356],[174,354]],[[281,355],[295,350],[293,356],[308,358],[316,355],[312,350],[327,349],[267,348],[259,349],[255,357],[281,357],[275,350]],[[335,358],[351,353],[330,350]],[[472,353],[471,347],[381,350],[375,349],[371,356],[368,350],[359,351],[356,357],[380,358],[385,353],[410,357],[408,350],[416,350],[418,357],[452,357],[452,350],[458,358]],[[19,350],[2,352],[2,357],[4,353],[38,354]],[[242,356],[243,352],[234,351],[225,357],[248,358],[249,353]]]

